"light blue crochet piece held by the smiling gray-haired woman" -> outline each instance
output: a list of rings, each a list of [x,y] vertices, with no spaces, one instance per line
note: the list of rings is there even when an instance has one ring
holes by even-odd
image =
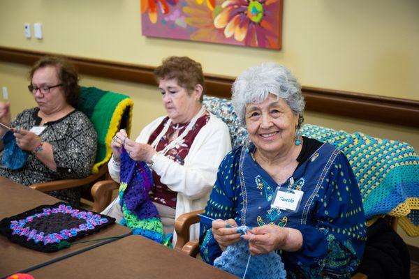
[[[247,229],[249,228],[246,226],[237,227],[237,231],[240,231],[242,234],[247,232]],[[214,266],[243,279],[286,278],[284,263],[281,260],[281,256],[276,252],[251,256],[250,260],[249,255],[249,243],[242,239],[228,246],[221,256],[214,260]],[[248,260],[249,266],[247,266]],[[246,275],[244,276],[245,271]]]

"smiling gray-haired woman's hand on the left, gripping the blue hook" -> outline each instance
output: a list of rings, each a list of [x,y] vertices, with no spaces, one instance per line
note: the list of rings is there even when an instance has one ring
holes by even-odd
[[[231,225],[233,227],[228,227]],[[214,239],[219,243],[221,250],[226,250],[227,246],[230,246],[237,241],[240,241],[240,232],[237,232],[237,223],[233,219],[221,220],[217,219],[212,221],[212,234]]]

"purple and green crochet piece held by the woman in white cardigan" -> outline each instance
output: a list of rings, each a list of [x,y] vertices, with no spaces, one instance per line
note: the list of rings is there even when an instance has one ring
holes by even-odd
[[[133,234],[171,246],[172,234],[164,236],[159,212],[149,199],[153,176],[147,164],[131,159],[122,149],[120,179],[119,204],[124,216],[121,225],[133,229]]]

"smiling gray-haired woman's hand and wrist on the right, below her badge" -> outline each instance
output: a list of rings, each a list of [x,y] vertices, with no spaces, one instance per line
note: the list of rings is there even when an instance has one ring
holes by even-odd
[[[267,254],[278,249],[293,251],[302,246],[302,235],[297,229],[265,225],[251,229],[249,232],[254,236],[245,234],[243,239],[249,241],[251,255]]]

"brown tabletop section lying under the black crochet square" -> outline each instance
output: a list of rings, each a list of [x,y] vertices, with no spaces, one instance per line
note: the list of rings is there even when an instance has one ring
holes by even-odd
[[[14,216],[29,209],[34,209],[42,204],[54,204],[59,199],[46,195],[29,187],[22,186],[0,176],[0,220],[6,217]],[[80,241],[98,239],[109,236],[119,236],[131,234],[131,229],[121,225],[111,225],[96,234],[86,236]],[[78,241],[75,241],[77,243]],[[99,241],[98,241],[99,242]],[[105,243],[80,243],[58,252],[45,253],[24,248],[6,239],[6,236],[0,235],[0,278],[43,264],[48,261],[54,261],[60,257],[66,257],[80,250],[93,248],[94,246]],[[40,277],[41,278],[41,277]]]

